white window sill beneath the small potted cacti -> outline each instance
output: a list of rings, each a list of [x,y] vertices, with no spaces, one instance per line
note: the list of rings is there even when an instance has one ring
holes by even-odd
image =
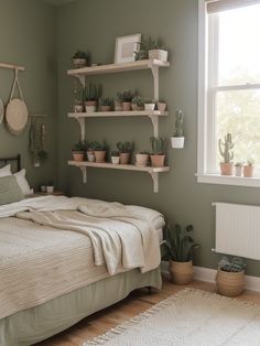
[[[220,174],[196,174],[198,183],[260,187],[260,176],[242,177]]]

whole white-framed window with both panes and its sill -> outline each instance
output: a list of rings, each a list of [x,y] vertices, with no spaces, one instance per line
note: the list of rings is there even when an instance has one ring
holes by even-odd
[[[260,186],[260,0],[199,0],[198,182]],[[257,179],[220,176],[218,141]]]

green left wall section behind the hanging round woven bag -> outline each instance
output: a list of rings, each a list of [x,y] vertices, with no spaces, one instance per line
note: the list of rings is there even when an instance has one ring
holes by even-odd
[[[35,0],[0,0],[0,62],[25,67],[20,82],[30,113],[46,113],[50,160],[33,167],[28,153],[30,122],[24,132],[12,136],[0,125],[0,158],[22,154],[32,186],[57,177],[57,68],[56,8]],[[13,72],[0,68],[0,98],[8,102]]]

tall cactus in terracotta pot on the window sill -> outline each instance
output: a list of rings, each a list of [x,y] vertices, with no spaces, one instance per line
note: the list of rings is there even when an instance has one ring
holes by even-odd
[[[220,162],[221,175],[232,175],[234,163],[231,160],[234,159],[234,152],[231,149],[234,148],[234,143],[231,133],[227,133],[224,141],[219,139],[218,147],[220,155],[224,159],[224,162]]]

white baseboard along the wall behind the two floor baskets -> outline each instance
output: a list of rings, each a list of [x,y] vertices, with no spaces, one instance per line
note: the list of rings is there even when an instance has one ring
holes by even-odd
[[[167,273],[167,262],[161,262],[161,271]],[[194,266],[194,279],[205,282],[215,282],[217,271],[215,269],[195,267]],[[246,289],[254,292],[260,292],[260,278],[246,275]]]

